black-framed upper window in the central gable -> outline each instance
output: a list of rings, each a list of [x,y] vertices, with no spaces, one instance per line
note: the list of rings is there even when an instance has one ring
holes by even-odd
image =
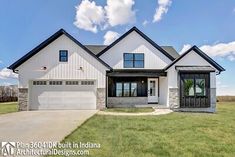
[[[124,53],[124,68],[144,68],[144,54]]]

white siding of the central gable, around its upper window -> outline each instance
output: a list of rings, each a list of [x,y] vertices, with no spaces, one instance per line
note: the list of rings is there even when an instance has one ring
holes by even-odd
[[[171,63],[168,57],[135,31],[102,54],[100,58],[113,69],[124,69],[124,53],[144,53],[144,69],[163,69]]]

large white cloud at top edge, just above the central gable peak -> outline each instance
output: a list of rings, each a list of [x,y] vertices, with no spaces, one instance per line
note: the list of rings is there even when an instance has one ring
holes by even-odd
[[[104,7],[111,26],[135,22],[134,0],[107,0]]]

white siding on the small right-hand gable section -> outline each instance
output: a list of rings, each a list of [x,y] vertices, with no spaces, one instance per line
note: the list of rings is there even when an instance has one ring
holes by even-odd
[[[210,88],[216,88],[216,73],[218,72],[218,70],[192,50],[167,70],[168,89],[179,88],[179,76],[177,71],[175,70],[175,66],[211,66],[215,69],[216,72],[210,72]],[[169,96],[167,97],[167,99],[167,106],[169,106]]]

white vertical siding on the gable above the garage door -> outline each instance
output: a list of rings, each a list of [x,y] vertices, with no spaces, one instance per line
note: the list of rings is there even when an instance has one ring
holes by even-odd
[[[68,62],[59,62],[59,50],[68,50]],[[42,67],[47,67],[47,70],[42,70]],[[105,88],[108,68],[62,35],[16,70],[19,73],[19,88],[28,88],[29,81],[36,79],[92,79],[97,81],[97,88]]]

